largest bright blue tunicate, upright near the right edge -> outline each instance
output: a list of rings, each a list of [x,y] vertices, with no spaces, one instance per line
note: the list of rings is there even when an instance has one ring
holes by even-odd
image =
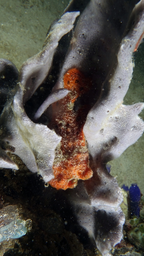
[[[137,217],[140,216],[140,189],[136,183],[132,184],[129,188],[129,198],[130,198],[130,212],[131,215]]]

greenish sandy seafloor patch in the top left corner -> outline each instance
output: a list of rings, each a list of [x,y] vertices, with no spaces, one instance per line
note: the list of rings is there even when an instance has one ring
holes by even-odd
[[[42,49],[50,24],[59,19],[68,0],[0,0],[0,58],[19,69]]]

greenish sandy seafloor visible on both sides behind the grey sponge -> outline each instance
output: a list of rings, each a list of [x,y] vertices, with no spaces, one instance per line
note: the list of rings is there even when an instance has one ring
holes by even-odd
[[[38,53],[51,22],[60,18],[68,0],[0,0],[0,58],[21,64]],[[126,105],[144,102],[144,44],[134,54],[134,72]],[[144,110],[140,114],[144,118]],[[110,162],[120,187],[137,183],[144,193],[144,135],[120,158]]]

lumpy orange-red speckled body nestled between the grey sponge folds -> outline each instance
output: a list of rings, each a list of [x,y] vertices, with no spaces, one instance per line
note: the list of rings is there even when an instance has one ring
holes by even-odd
[[[57,189],[74,188],[77,180],[92,177],[89,154],[83,134],[83,125],[88,113],[87,106],[74,110],[77,97],[86,93],[91,82],[78,69],[70,69],[64,75],[64,88],[71,91],[64,99],[53,103],[50,129],[62,137],[56,149],[53,170],[49,184]]]

